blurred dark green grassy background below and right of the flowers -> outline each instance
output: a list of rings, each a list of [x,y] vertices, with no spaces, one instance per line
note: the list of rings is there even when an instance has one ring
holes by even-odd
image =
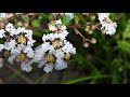
[[[65,70],[46,73],[37,67],[29,73],[11,67],[0,69],[0,83],[5,84],[129,84],[130,83],[130,13],[116,13],[117,32],[104,36],[93,32],[96,44],[83,47],[81,38],[70,32],[67,39],[77,54]],[[11,70],[10,70],[11,69]]]

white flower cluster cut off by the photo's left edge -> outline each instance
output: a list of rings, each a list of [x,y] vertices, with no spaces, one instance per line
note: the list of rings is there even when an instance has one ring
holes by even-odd
[[[0,66],[3,66],[3,60],[8,58],[10,64],[14,60],[20,63],[21,68],[24,71],[31,71],[31,58],[34,51],[31,46],[36,42],[32,40],[32,30],[26,29],[25,27],[16,28],[13,24],[9,23],[5,29],[0,30],[0,39],[5,39],[3,44],[0,44]]]

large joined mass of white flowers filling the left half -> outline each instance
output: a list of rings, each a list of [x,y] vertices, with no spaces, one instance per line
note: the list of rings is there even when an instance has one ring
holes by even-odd
[[[22,70],[26,72],[31,71],[34,63],[37,63],[39,68],[44,66],[46,72],[52,71],[53,68],[67,68],[67,61],[72,54],[76,53],[76,48],[66,40],[66,26],[58,19],[50,23],[49,29],[54,32],[43,34],[43,43],[34,51],[36,41],[32,40],[32,30],[6,24],[4,29],[0,30],[0,39],[5,40],[0,44],[0,67],[8,60],[11,65],[21,64]]]

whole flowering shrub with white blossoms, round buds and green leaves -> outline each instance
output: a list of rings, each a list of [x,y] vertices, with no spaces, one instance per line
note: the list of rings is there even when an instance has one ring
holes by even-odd
[[[75,31],[82,46],[95,44],[91,34],[112,36],[117,23],[113,13],[0,13],[0,67],[8,61],[26,72],[32,65],[46,72],[67,68],[76,46],[67,40]],[[81,32],[88,34],[84,34]],[[83,55],[82,55],[83,56]]]

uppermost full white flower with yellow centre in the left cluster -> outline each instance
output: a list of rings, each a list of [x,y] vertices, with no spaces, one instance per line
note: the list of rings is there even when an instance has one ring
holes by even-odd
[[[32,30],[26,29],[25,27],[14,27],[13,24],[9,23],[5,26],[5,30],[9,32],[9,36],[13,37],[16,43],[21,45],[32,46],[36,40],[32,40]]]

